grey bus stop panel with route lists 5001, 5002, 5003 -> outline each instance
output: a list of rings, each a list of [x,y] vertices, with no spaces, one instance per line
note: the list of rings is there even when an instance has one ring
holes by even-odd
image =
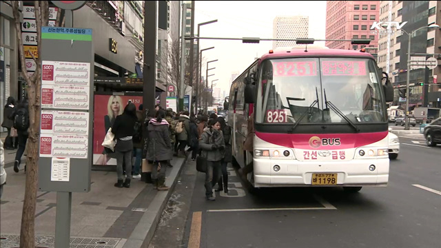
[[[92,29],[41,28],[41,61],[39,190],[89,192]]]

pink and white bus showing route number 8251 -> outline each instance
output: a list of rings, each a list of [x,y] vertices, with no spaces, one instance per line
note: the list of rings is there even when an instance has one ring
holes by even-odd
[[[225,104],[234,163],[253,162],[254,187],[387,186],[392,100],[387,74],[364,50],[270,50],[232,83]],[[250,116],[253,154],[244,151]]]

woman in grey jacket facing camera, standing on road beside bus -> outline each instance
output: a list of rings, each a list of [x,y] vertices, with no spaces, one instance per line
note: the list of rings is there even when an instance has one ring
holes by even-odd
[[[223,158],[223,149],[225,149],[220,123],[216,119],[209,120],[208,127],[205,128],[199,141],[199,148],[202,150],[201,156],[207,161],[205,197],[210,201],[216,200],[213,197],[213,186],[220,177],[220,162]]]

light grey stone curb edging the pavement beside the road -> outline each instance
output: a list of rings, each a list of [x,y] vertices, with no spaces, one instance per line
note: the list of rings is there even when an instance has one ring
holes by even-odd
[[[184,158],[181,165],[173,165],[170,176],[165,179],[165,184],[170,185],[170,189],[168,191],[156,193],[152,203],[150,203],[147,211],[145,211],[143,217],[141,217],[141,220],[139,220],[138,225],[136,225],[135,229],[132,231],[132,234],[130,234],[130,237],[127,238],[123,248],[141,248],[147,247],[150,244],[165,205],[167,205],[168,199],[173,193],[177,179],[179,175],[181,175],[186,161],[187,158]]]

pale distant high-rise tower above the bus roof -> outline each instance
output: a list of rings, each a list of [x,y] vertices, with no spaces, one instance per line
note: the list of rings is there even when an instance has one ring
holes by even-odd
[[[299,39],[308,38],[309,17],[303,16],[278,16],[273,21],[273,39]],[[294,47],[296,41],[273,41],[273,49]]]

